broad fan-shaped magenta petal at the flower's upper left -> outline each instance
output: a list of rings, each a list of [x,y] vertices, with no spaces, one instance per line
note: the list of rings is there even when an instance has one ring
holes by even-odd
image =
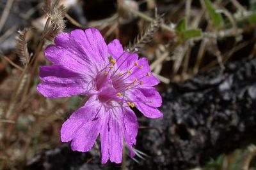
[[[82,73],[94,73],[92,68],[101,69],[108,62],[108,48],[97,29],[61,33],[55,38],[55,43],[45,49],[45,57],[55,64]]]

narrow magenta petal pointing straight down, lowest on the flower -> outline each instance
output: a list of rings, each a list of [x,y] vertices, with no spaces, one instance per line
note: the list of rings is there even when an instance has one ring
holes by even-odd
[[[113,111],[105,113],[105,121],[100,130],[101,162],[105,164],[108,159],[117,164],[122,162],[123,135],[122,123]],[[120,113],[119,113],[120,114]]]

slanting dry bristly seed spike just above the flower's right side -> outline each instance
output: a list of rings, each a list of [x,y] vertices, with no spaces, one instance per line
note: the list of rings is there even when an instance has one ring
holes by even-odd
[[[137,38],[134,40],[132,45],[129,45],[129,50],[133,51],[136,48],[140,50],[143,48],[147,43],[149,43],[153,37],[156,31],[159,29],[161,24],[163,23],[163,18],[161,15],[157,15],[156,19],[151,22],[150,25],[148,25],[147,29],[141,34],[137,36]]]

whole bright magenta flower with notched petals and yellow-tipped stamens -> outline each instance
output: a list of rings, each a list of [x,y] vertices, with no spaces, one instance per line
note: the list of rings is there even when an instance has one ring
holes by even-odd
[[[115,39],[106,45],[97,29],[61,33],[45,49],[52,66],[40,67],[38,91],[45,97],[83,95],[88,101],[61,127],[61,141],[87,152],[100,135],[102,163],[122,161],[124,140],[132,152],[138,121],[134,106],[148,118],[163,117],[159,83],[148,61],[124,51]]]

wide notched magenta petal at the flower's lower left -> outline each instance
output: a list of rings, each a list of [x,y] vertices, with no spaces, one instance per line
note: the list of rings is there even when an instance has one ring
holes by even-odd
[[[72,140],[72,150],[87,152],[99,135],[103,114],[104,108],[92,97],[62,125],[61,141]]]

